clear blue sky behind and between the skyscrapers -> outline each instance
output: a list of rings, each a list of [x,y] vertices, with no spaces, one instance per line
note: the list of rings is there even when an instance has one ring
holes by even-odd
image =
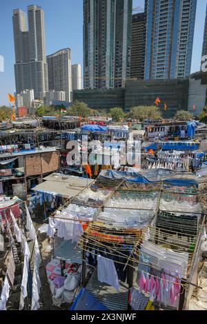
[[[144,7],[144,0],[133,0],[133,7]],[[197,0],[197,16],[191,72],[200,68],[201,48],[207,0]],[[3,0],[0,10],[0,55],[4,57],[4,72],[0,72],[0,105],[8,105],[7,94],[14,92],[14,40],[12,10],[37,4],[45,12],[46,54],[70,47],[72,64],[83,66],[83,1],[82,0]]]

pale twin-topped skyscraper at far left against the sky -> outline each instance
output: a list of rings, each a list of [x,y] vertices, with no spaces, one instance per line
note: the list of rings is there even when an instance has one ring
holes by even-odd
[[[48,90],[43,10],[38,6],[28,6],[27,30],[26,14],[15,9],[13,29],[16,92],[34,89],[34,98],[38,99],[39,92]]]

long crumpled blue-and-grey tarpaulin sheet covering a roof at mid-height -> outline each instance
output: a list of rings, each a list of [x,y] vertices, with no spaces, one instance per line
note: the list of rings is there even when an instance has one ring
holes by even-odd
[[[198,187],[195,175],[186,172],[177,172],[175,170],[155,169],[141,170],[140,172],[103,170],[99,176],[110,179],[123,179],[135,183],[157,183],[163,181],[171,185],[186,187],[196,185]]]

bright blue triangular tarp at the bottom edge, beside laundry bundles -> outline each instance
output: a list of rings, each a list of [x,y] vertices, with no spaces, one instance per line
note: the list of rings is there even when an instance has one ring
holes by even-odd
[[[77,298],[70,307],[70,310],[108,310],[95,296],[81,287]]]

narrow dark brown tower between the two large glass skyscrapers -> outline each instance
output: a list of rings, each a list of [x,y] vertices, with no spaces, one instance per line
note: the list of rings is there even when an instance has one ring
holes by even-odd
[[[132,15],[132,44],[130,77],[144,79],[144,62],[146,46],[146,14]]]

